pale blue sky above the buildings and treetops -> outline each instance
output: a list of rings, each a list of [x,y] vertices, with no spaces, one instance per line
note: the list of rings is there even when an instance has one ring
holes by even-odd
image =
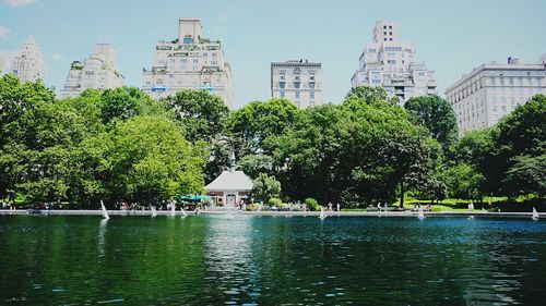
[[[142,86],[158,40],[199,17],[232,64],[235,107],[266,100],[270,63],[322,62],[324,102],[340,103],[377,21],[396,21],[401,41],[436,72],[438,94],[483,63],[537,62],[546,53],[544,0],[0,0],[0,56],[34,35],[46,85],[61,88],[72,61],[109,42],[130,86]]]

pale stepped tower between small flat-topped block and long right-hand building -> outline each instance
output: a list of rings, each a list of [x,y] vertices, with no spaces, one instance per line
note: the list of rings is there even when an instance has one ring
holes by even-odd
[[[399,40],[396,22],[376,23],[373,42],[366,45],[358,61],[353,87],[381,86],[402,105],[412,97],[437,93],[435,72],[415,61],[413,45]]]

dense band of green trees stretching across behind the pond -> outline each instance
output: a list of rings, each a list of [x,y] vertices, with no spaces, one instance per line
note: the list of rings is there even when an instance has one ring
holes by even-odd
[[[254,198],[313,209],[396,198],[403,206],[406,193],[429,200],[546,194],[543,95],[456,139],[453,111],[437,96],[402,108],[381,88],[356,87],[340,105],[301,110],[274,98],[229,112],[206,91],[154,101],[122,87],[57,99],[41,83],[7,75],[0,126],[0,197],[27,203],[149,205],[202,193],[232,152],[254,181]]]

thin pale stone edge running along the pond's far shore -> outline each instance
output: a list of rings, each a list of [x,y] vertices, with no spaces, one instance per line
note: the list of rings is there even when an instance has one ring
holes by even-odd
[[[151,217],[151,210],[107,210],[109,216],[122,216],[122,217],[131,217],[131,216],[141,216],[141,217]],[[187,211],[188,216],[199,216],[199,215],[226,215],[224,210],[209,210],[201,211],[199,215],[195,215],[193,211]],[[406,217],[406,218],[416,218],[417,211],[387,211],[387,212],[378,212],[378,211],[328,211],[328,217]],[[26,209],[17,209],[17,210],[0,210],[1,216],[102,216],[102,210],[70,210],[70,209],[52,209],[52,210],[35,210],[33,212],[28,212]],[[234,211],[234,216],[273,216],[273,217],[319,217],[320,211]],[[489,211],[434,211],[434,212],[424,212],[425,217],[505,217],[505,218],[531,218],[532,212],[489,212]],[[171,216],[171,211],[168,210],[157,210],[157,217],[159,216]],[[182,213],[180,210],[177,210],[175,217],[181,217]],[[546,218],[546,212],[539,212],[539,218]]]

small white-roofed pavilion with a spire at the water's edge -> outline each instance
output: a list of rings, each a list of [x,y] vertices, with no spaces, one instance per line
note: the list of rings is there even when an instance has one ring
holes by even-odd
[[[218,178],[205,186],[206,193],[215,199],[216,205],[235,207],[252,191],[252,180],[242,171],[235,170],[235,154],[232,156],[232,168],[223,171]]]

